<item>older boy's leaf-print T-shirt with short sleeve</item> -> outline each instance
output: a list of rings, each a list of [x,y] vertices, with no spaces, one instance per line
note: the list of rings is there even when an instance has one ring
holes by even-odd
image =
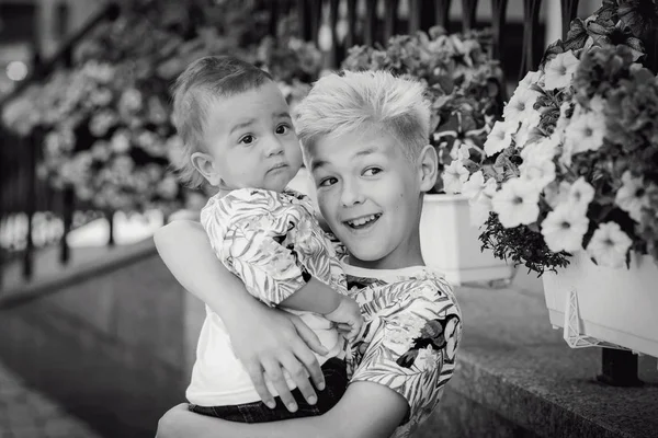
[[[365,318],[348,360],[351,382],[379,383],[402,395],[409,413],[393,437],[410,437],[441,400],[455,369],[462,313],[452,287],[426,266],[343,268],[349,293]]]

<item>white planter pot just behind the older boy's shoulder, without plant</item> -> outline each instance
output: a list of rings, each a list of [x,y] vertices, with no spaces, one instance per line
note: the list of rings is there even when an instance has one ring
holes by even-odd
[[[420,218],[420,249],[428,266],[442,270],[458,286],[468,281],[510,279],[514,268],[480,251],[479,231],[470,224],[468,200],[462,195],[426,195]]]

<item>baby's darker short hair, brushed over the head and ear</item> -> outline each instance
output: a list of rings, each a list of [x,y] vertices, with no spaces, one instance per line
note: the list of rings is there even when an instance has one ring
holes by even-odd
[[[208,106],[218,99],[257,89],[271,80],[268,72],[232,56],[197,59],[178,77],[171,89],[172,122],[182,142],[180,150],[170,155],[182,183],[198,187],[205,182],[192,165],[192,154],[205,151],[203,138]]]

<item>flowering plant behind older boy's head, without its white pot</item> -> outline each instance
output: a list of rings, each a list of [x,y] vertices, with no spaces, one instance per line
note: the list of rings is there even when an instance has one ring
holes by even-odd
[[[432,102],[430,142],[439,171],[451,173],[460,150],[484,154],[489,127],[502,108],[502,70],[487,50],[489,43],[485,32],[446,34],[436,26],[428,34],[394,36],[386,47],[352,47],[342,68],[389,70],[424,82]],[[451,184],[439,178],[433,192]]]

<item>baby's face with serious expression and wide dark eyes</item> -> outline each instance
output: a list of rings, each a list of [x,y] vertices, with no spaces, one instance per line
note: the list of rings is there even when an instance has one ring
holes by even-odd
[[[229,188],[281,192],[302,166],[288,105],[271,81],[211,104],[204,137]]]

